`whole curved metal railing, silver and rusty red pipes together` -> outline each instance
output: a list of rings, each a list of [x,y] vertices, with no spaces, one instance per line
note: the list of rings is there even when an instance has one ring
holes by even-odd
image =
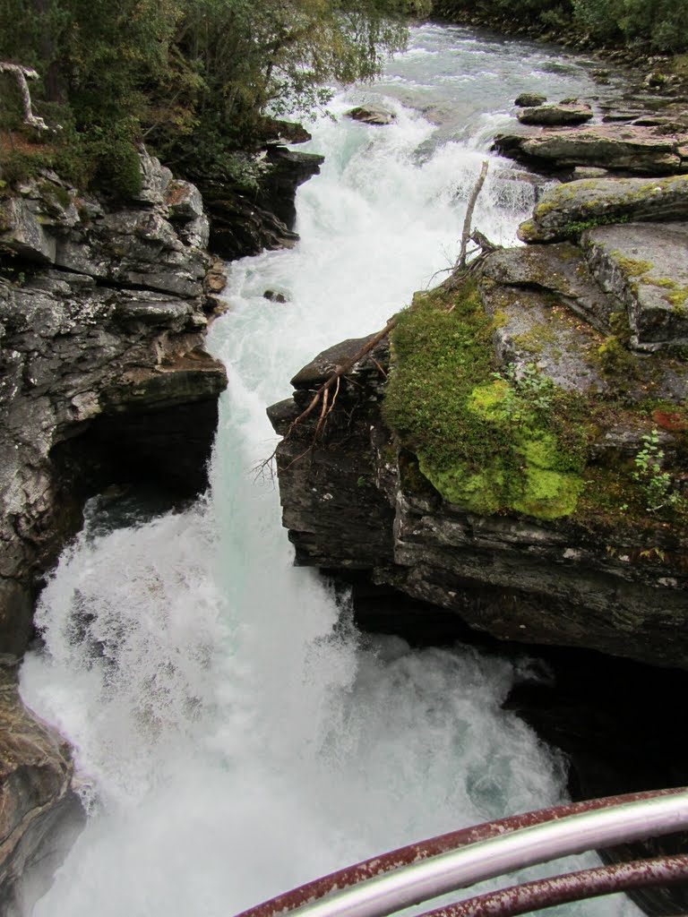
[[[574,802],[401,847],[265,901],[239,917],[386,917],[513,869],[686,828],[685,787]],[[527,882],[427,911],[423,917],[510,917],[686,880],[688,856],[663,856]]]

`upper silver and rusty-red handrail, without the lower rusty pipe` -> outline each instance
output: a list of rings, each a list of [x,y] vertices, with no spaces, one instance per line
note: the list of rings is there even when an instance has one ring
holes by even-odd
[[[686,788],[527,812],[373,857],[240,917],[385,917],[512,869],[686,827]]]

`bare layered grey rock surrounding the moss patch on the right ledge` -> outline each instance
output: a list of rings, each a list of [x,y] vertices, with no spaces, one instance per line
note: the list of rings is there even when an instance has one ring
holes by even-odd
[[[614,182],[600,180],[603,197],[610,192],[605,181]],[[547,195],[543,202],[548,204]],[[494,370],[511,367],[510,378],[530,372],[538,385],[580,395],[594,411],[593,423],[581,420],[586,464],[565,500],[558,504],[552,494],[558,481],[569,486],[570,475],[559,478],[538,464],[547,441],[541,438],[540,447],[533,440],[523,451],[524,487],[531,461],[533,480],[544,469],[547,483],[530,503],[522,497],[512,508],[507,501],[476,510],[476,488],[487,481],[480,475],[473,489],[463,491],[463,503],[450,502],[441,485],[438,491],[421,472],[422,455],[419,463],[412,444],[384,424],[390,366],[385,345],[379,345],[340,387],[324,435],[314,438],[316,421],[306,422],[278,450],[283,521],[296,562],[365,571],[374,582],[456,613],[500,639],[587,647],[688,668],[688,536],[682,516],[667,516],[659,506],[646,511],[646,495],[634,491],[644,437],[656,436],[656,448],[673,462],[677,504],[688,473],[684,315],[681,308],[660,307],[658,319],[654,293],[638,293],[643,275],[628,257],[646,242],[649,250],[638,233],[657,234],[648,238],[657,239],[658,255],[660,238],[682,238],[682,224],[658,226],[601,226],[585,230],[575,244],[505,249],[484,263],[479,295],[492,321]],[[682,290],[682,261],[657,270],[665,269],[671,289],[653,287],[654,269],[643,265],[652,291]],[[278,432],[286,432],[317,386],[362,343],[344,342],[294,377],[293,400],[269,410]],[[481,389],[485,397],[504,391],[504,381],[485,382]],[[500,475],[495,480],[503,495],[497,501],[505,500]],[[631,496],[623,495],[621,481]],[[461,493],[461,482],[454,492]],[[533,508],[514,512],[514,505]]]

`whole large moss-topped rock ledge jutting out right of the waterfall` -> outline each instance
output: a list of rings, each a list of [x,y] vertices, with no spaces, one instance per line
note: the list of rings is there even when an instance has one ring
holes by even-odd
[[[279,447],[297,563],[356,571],[502,640],[688,668],[686,225],[665,222],[685,215],[665,190],[562,185],[522,234],[559,239],[533,228],[556,224],[565,240],[498,250],[416,294],[392,359],[379,344],[324,432],[308,419]],[[581,209],[584,224],[569,218]],[[277,432],[362,343],[294,377],[269,409]]]

